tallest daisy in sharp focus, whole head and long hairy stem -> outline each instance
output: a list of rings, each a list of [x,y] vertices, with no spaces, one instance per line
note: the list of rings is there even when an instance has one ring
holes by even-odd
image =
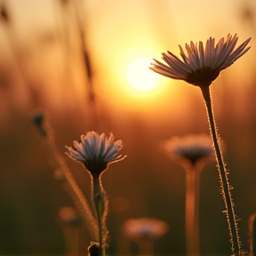
[[[231,251],[236,255],[239,255],[241,252],[241,245],[238,236],[238,224],[228,182],[228,172],[225,168],[220,150],[220,143],[213,115],[212,95],[210,92],[210,85],[220,75],[220,71],[228,68],[250,49],[250,47],[246,46],[251,38],[248,38],[235,50],[237,40],[238,36],[236,34],[235,36],[228,34],[226,40],[222,37],[216,45],[215,38],[212,37],[207,40],[205,47],[201,41],[198,44],[191,42],[190,45],[185,45],[187,54],[180,46],[180,56],[182,60],[172,52],[167,52],[163,53],[162,56],[167,65],[155,60],[150,68],[163,76],[183,80],[188,84],[196,85],[203,93],[210,133],[212,135],[215,156],[219,167],[220,191],[226,208],[224,212],[227,214]]]

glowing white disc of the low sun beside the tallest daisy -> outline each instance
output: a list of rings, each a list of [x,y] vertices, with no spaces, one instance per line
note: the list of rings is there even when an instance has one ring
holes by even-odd
[[[147,57],[132,60],[127,68],[126,76],[134,89],[147,92],[156,87],[160,76],[149,69],[152,62],[153,60]]]

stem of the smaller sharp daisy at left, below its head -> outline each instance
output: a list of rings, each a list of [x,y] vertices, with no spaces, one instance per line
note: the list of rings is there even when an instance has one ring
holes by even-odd
[[[97,213],[97,220],[99,226],[99,237],[100,237],[100,255],[105,256],[105,240],[106,240],[106,196],[105,191],[102,187],[100,175],[94,175],[92,177],[92,196]]]

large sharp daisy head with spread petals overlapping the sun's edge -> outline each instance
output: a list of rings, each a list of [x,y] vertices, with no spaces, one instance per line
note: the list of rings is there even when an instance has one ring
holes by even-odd
[[[220,71],[228,68],[237,59],[244,55],[250,47],[246,45],[251,37],[244,41],[235,50],[238,36],[228,34],[227,39],[223,37],[215,45],[215,38],[210,37],[204,47],[203,42],[185,44],[185,51],[180,46],[180,60],[172,52],[162,53],[162,59],[166,64],[155,60],[150,69],[156,73],[172,79],[183,80],[188,84],[199,87],[210,86],[220,75]]]

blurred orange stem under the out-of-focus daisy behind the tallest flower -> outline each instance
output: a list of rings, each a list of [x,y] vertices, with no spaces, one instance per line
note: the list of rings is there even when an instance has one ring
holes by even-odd
[[[199,255],[199,170],[186,168],[186,243],[187,256]]]

